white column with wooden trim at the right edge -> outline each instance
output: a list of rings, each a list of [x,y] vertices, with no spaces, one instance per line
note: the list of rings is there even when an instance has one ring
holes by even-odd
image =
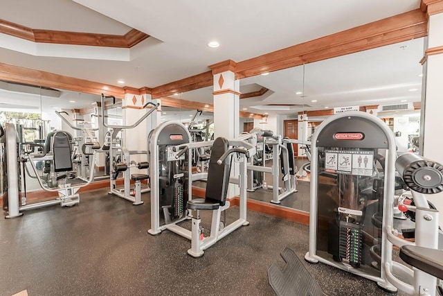
[[[422,0],[422,9],[426,9],[428,15],[428,38],[422,60],[420,154],[443,164],[443,1]],[[443,227],[443,193],[428,195],[428,198],[440,210],[440,227]]]

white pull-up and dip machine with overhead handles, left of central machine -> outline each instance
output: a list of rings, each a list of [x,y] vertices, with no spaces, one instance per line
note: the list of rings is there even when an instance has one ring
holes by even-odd
[[[143,204],[143,201],[141,200],[141,193],[149,192],[150,189],[141,189],[141,181],[142,180],[148,180],[149,175],[148,174],[141,174],[136,173],[132,174],[130,173],[130,168],[138,168],[138,169],[146,169],[149,167],[148,162],[134,162],[131,161],[130,157],[131,155],[147,155],[147,150],[128,150],[127,148],[120,146],[120,141],[116,141],[118,133],[120,133],[121,130],[129,130],[132,128],[135,128],[137,125],[139,125],[142,121],[144,121],[147,116],[150,116],[152,112],[157,110],[159,107],[159,103],[152,103],[147,102],[145,105],[143,105],[143,108],[147,107],[148,105],[152,105],[152,108],[143,114],[136,123],[132,125],[111,125],[105,122],[105,98],[112,98],[115,100],[116,98],[114,96],[105,96],[102,94],[101,101],[102,101],[102,125],[105,126],[105,128],[109,129],[109,132],[111,134],[111,141],[109,142],[109,194],[114,194],[118,196],[119,198],[123,198],[125,200],[129,200],[134,205]],[[120,173],[123,173],[123,190],[117,189],[117,177]],[[135,182],[134,190],[131,193],[131,180]]]

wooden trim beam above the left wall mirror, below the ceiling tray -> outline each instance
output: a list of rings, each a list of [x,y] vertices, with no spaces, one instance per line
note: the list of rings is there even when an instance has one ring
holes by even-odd
[[[44,87],[53,87],[75,92],[84,92],[87,94],[106,94],[115,96],[116,98],[125,97],[125,91],[122,87],[105,85],[90,80],[13,66],[11,64],[0,63],[0,79],[27,83],[29,85],[41,85]],[[105,90],[104,87],[107,87],[107,90]]]

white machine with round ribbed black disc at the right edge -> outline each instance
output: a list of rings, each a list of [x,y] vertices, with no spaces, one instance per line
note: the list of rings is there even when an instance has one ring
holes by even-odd
[[[386,242],[401,247],[401,259],[417,268],[411,269],[395,261],[384,263],[382,268],[394,286],[410,295],[442,295],[442,286],[437,287],[437,278],[443,278],[443,251],[437,251],[439,211],[430,207],[426,196],[443,191],[443,166],[419,155],[405,153],[397,158],[395,167],[412,195],[412,199],[400,200],[398,207],[400,211],[412,212],[408,216],[415,220],[415,241],[395,235],[392,219],[383,227],[384,237]],[[386,199],[385,216],[392,216],[392,203],[392,198]]]

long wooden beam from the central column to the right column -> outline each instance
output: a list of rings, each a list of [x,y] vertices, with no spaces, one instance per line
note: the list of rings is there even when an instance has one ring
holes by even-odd
[[[349,53],[424,37],[427,34],[426,15],[422,10],[412,10],[237,62],[235,78],[246,78],[264,71],[278,71],[301,64],[336,58]]]

